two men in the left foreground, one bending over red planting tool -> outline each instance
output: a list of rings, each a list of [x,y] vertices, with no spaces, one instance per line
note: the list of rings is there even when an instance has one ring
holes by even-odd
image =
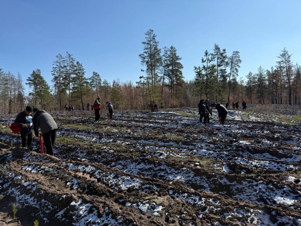
[[[36,137],[39,137],[39,128],[41,128],[46,154],[54,156],[53,146],[58,127],[49,113],[35,107],[26,106],[25,110],[17,115],[14,122],[20,127],[22,147],[31,149],[33,131]]]

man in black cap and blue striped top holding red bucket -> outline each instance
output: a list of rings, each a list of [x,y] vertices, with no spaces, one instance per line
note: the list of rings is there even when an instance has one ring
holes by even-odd
[[[31,148],[31,143],[33,141],[33,108],[31,106],[26,106],[25,110],[20,112],[15,123],[20,127],[20,135],[22,140],[22,147]]]

